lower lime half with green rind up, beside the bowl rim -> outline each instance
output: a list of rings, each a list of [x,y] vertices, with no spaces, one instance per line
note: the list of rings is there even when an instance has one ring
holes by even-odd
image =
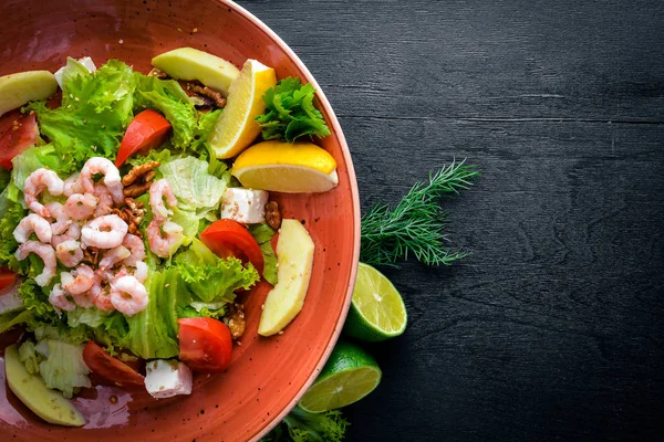
[[[371,393],[381,376],[373,357],[353,344],[340,341],[300,407],[312,413],[345,407]]]

